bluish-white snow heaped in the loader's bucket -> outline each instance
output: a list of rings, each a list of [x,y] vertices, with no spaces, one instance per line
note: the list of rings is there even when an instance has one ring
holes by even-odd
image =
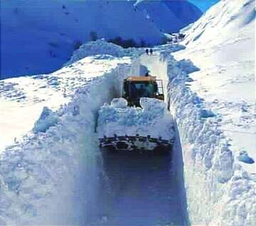
[[[100,109],[97,129],[100,141],[122,139],[122,137],[129,140],[131,136],[133,138],[137,136],[137,139],[148,138],[149,142],[151,139],[153,141],[157,139],[172,144],[174,122],[166,104],[158,99],[146,97],[140,99],[140,104],[142,108],[127,107],[127,102],[123,98],[115,98],[111,104],[104,104]],[[154,147],[153,145],[144,148],[154,149]]]

